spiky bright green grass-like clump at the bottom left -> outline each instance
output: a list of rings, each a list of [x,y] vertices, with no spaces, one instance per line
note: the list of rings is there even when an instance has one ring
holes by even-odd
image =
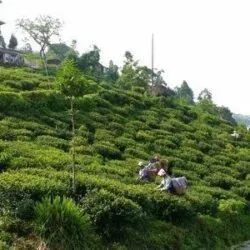
[[[72,200],[44,198],[36,204],[35,216],[37,231],[51,249],[98,249],[88,217]]]

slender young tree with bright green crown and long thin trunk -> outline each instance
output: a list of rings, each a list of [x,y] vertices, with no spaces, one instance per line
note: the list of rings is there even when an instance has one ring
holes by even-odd
[[[77,68],[73,60],[65,60],[57,75],[57,82],[59,83],[59,89],[63,95],[70,100],[70,117],[72,126],[72,190],[75,193],[75,98],[83,95],[87,80],[84,78],[81,71]]]

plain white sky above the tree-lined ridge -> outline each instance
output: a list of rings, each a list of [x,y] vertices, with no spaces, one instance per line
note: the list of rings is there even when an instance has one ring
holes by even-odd
[[[129,50],[141,64],[165,70],[170,87],[186,80],[197,97],[204,88],[217,105],[250,115],[249,0],[3,0],[6,43],[15,20],[49,14],[64,22],[62,41],[80,53],[96,44],[101,60],[122,65]]]

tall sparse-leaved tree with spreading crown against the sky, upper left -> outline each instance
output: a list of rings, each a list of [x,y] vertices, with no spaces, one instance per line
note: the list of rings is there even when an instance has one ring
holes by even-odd
[[[46,75],[48,67],[46,61],[46,49],[50,45],[52,37],[58,37],[62,23],[51,16],[39,16],[35,20],[23,18],[17,20],[17,26],[24,30],[40,46],[40,57],[44,63]]]

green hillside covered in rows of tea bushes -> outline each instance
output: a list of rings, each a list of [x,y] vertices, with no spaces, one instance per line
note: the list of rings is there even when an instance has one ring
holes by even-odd
[[[1,249],[228,249],[250,239],[250,132],[243,125],[221,119],[210,102],[185,105],[88,81],[88,93],[75,100],[73,194],[69,100],[53,77],[0,68]],[[185,195],[137,179],[138,161],[155,153],[174,176],[187,177]],[[38,206],[57,195],[65,202]],[[56,224],[59,210],[64,227]]]

